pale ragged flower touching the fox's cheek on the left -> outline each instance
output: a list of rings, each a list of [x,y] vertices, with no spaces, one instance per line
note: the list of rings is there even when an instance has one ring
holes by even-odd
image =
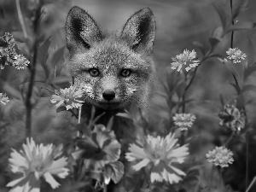
[[[84,89],[71,85],[69,88],[55,90],[55,95],[51,96],[50,102],[56,103],[59,108],[61,105],[68,109],[82,107],[83,101],[78,100],[84,94]]]

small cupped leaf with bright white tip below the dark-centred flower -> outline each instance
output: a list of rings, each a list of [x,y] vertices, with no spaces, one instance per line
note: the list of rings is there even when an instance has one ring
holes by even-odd
[[[113,183],[119,183],[124,172],[124,165],[120,161],[107,164],[104,167],[103,172],[105,183],[108,184],[110,182],[110,178],[113,180]]]

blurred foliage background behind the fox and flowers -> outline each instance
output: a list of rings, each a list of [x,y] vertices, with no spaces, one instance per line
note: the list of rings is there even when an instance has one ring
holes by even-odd
[[[21,10],[23,14],[29,14],[27,9],[36,0],[20,1]],[[65,47],[66,39],[64,32],[64,25],[67,17],[67,12],[74,5],[85,9],[96,20],[98,26],[102,30],[116,31],[125,25],[125,21],[138,9],[149,7],[153,10],[156,19],[157,33],[154,43],[154,59],[157,63],[157,75],[160,81],[172,80],[170,63],[172,57],[180,54],[183,49],[195,49],[199,55],[199,60],[202,57],[200,49],[197,49],[194,42],[204,44],[206,49],[210,48],[208,38],[212,34],[212,30],[216,26],[220,26],[221,22],[216,9],[212,3],[222,3],[226,14],[230,14],[229,1],[224,0],[55,0],[48,2],[44,6],[44,16],[40,24],[40,44],[49,38],[51,44],[49,45],[49,65],[53,68],[61,66],[61,62],[55,63],[53,56],[56,50],[62,49],[64,53],[67,52]],[[234,2],[236,2],[234,0]],[[236,20],[239,22],[250,21],[256,22],[256,1],[249,0],[247,4],[247,11],[239,15]],[[26,15],[31,17],[32,15]],[[22,53],[26,55],[28,50],[22,43],[22,32],[20,21],[18,19],[15,1],[14,0],[0,0],[0,35],[4,32],[11,32],[15,40],[20,42],[17,44]],[[249,61],[254,61],[255,57],[255,30],[241,30],[236,31],[234,36],[234,47],[239,47],[247,54]],[[230,33],[224,38],[214,49],[218,55],[225,56],[225,51],[230,47]],[[45,79],[44,69],[38,66],[38,79]],[[166,71],[168,73],[166,73]],[[60,69],[60,75],[61,75]],[[25,71],[17,71],[10,68],[5,68],[3,73],[0,73],[1,84],[9,84],[15,90],[20,90],[21,82],[26,79],[27,73]],[[158,84],[160,84],[160,81]],[[191,85],[186,94],[187,99],[193,99],[186,107],[187,113],[195,113],[196,121],[194,130],[189,131],[189,135],[201,135],[197,137],[192,144],[195,147],[196,153],[207,153],[209,148],[213,145],[223,143],[228,137],[221,131],[218,125],[218,113],[222,108],[219,100],[220,95],[224,96],[224,101],[229,103],[236,96],[236,90],[229,83],[234,79],[230,71],[223,63],[216,58],[211,58],[204,61],[198,69],[195,76],[195,81]],[[245,82],[245,84],[255,84],[255,73],[253,73]],[[38,83],[38,87],[40,83]],[[15,96],[15,90],[12,96]],[[169,119],[169,108],[166,105],[163,89],[157,90],[160,92],[154,98],[155,108],[152,115],[154,119]],[[40,90],[40,96],[49,96],[47,90]],[[245,98],[247,99],[248,122],[252,127],[249,137],[249,181],[256,176],[256,93],[248,90]],[[156,113],[155,113],[156,112]],[[155,122],[154,131],[160,130],[160,123]],[[244,191],[245,189],[245,172],[246,172],[246,158],[245,158],[245,142],[236,139],[232,143],[232,150],[235,153],[235,162],[229,169],[224,172],[224,182],[236,191]],[[206,176],[201,176],[206,177]],[[228,189],[224,189],[229,191]],[[255,191],[256,187],[251,189]],[[230,190],[232,191],[232,190]]]

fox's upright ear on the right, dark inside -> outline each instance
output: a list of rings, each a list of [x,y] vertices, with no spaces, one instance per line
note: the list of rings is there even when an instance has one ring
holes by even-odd
[[[121,32],[122,38],[125,38],[131,49],[146,50],[148,53],[153,50],[154,34],[155,20],[149,8],[141,9],[132,15]]]

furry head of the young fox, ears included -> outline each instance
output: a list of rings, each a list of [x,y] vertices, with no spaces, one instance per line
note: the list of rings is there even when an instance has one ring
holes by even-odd
[[[66,22],[68,72],[86,91],[84,101],[98,108],[127,108],[145,104],[154,73],[155,20],[141,9],[118,34],[102,32],[79,7],[70,9]]]

